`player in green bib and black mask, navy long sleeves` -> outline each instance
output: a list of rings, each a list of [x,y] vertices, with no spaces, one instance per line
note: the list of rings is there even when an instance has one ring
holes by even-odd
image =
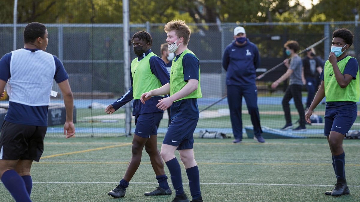
[[[108,194],[115,198],[125,196],[126,188],[131,178],[140,165],[141,153],[145,151],[150,157],[151,165],[156,174],[159,186],[152,192],[146,192],[145,196],[169,195],[172,193],[165,175],[164,163],[157,148],[157,126],[163,110],[158,109],[156,104],[164,96],[152,97],[147,104],[140,102],[140,96],[150,89],[159,88],[169,82],[169,74],[165,63],[151,51],[153,40],[148,32],[136,32],[131,38],[134,52],[137,56],[131,62],[130,81],[131,87],[121,98],[105,108],[108,114],[114,113],[121,106],[134,99],[132,115],[135,116],[135,135],[132,139],[131,159],[125,175],[116,188]]]

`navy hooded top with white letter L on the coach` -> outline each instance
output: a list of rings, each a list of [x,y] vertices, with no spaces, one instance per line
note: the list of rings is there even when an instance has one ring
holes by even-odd
[[[255,70],[259,66],[259,50],[249,39],[242,46],[238,46],[234,40],[225,48],[222,67],[226,70],[226,85],[255,85]]]

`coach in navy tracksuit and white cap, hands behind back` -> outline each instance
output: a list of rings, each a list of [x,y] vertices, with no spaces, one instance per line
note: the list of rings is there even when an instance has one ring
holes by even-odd
[[[230,119],[235,140],[240,143],[243,138],[242,97],[251,116],[254,127],[254,139],[265,142],[261,137],[260,115],[257,107],[257,88],[255,84],[255,69],[260,65],[260,55],[256,45],[246,38],[245,29],[234,29],[234,41],[230,43],[222,57],[222,67],[226,70],[226,86]]]

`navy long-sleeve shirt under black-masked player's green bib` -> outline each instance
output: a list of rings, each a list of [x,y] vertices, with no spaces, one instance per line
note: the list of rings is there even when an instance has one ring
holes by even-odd
[[[149,49],[146,51],[143,55],[138,55],[138,60],[140,61],[145,56],[147,56],[151,51]],[[150,70],[151,72],[159,79],[162,85],[165,85],[169,83],[170,81],[170,75],[167,72],[166,64],[165,62],[159,58],[158,56],[152,56],[149,60],[150,63]],[[131,69],[130,69],[130,82],[131,87],[129,91],[127,91],[123,96],[118,98],[113,104],[111,104],[115,110],[118,110],[120,107],[125,105],[127,102],[130,102],[132,99],[134,99],[132,95],[132,75],[131,75]],[[145,92],[144,92],[145,93]],[[141,103],[140,99],[134,100],[134,103],[132,104],[132,115],[138,115],[138,114],[146,114],[146,113],[154,113],[162,110],[158,109],[154,103],[157,103],[158,100],[162,99],[163,97],[153,96],[145,102],[145,104]],[[149,105],[153,105],[152,107],[149,107]]]

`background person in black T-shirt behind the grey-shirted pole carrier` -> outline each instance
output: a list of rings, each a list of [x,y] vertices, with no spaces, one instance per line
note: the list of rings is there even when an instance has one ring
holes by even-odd
[[[303,78],[305,79],[307,88],[307,101],[305,111],[309,109],[312,100],[315,96],[315,91],[318,89],[319,75],[323,69],[320,60],[315,55],[314,48],[306,51],[306,56],[302,59]]]

